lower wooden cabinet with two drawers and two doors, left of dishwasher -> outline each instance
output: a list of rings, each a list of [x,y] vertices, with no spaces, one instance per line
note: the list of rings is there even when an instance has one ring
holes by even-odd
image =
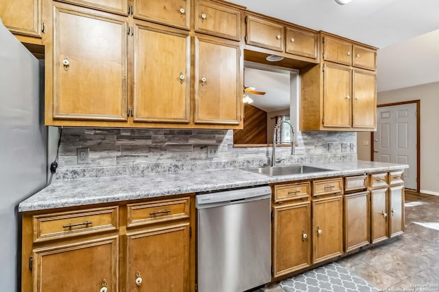
[[[22,291],[194,291],[191,196],[24,213]]]

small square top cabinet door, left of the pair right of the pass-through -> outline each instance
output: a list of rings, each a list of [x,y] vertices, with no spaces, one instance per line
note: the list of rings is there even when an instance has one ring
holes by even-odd
[[[352,44],[329,36],[324,37],[323,59],[335,63],[352,64]]]

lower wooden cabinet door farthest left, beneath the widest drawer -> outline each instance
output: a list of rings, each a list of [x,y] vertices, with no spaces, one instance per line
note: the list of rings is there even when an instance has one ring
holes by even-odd
[[[118,291],[118,238],[34,250],[33,291]]]

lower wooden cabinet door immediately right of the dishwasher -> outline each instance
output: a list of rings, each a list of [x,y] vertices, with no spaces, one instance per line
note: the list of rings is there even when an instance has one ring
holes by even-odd
[[[311,265],[311,204],[273,208],[273,277]]]

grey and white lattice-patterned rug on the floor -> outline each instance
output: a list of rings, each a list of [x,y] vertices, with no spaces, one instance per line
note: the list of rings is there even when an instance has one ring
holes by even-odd
[[[337,263],[318,267],[283,280],[279,286],[286,292],[378,292],[379,289],[352,274]]]

